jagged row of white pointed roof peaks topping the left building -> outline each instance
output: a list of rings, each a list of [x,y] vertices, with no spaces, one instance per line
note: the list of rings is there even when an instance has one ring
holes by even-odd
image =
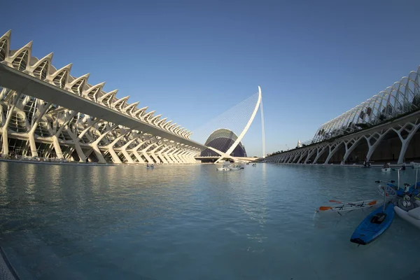
[[[139,102],[128,103],[129,96],[120,99],[116,98],[118,90],[104,92],[102,89],[105,83],[90,85],[87,83],[90,76],[89,73],[78,78],[71,76],[72,64],[56,69],[52,66],[52,53],[42,59],[31,56],[32,42],[27,43],[19,50],[10,50],[10,36],[11,31],[8,31],[0,37],[0,63],[44,80],[63,90],[73,92],[73,94],[78,94],[80,97],[90,99],[93,102],[97,102],[97,104],[109,107],[132,118],[137,118],[141,122],[159,127],[179,137],[190,139],[192,132],[181,127],[181,125],[173,123],[172,120],[168,121],[167,118],[162,118],[160,114],[154,116],[155,111],[146,112],[148,106],[139,109],[137,108]]]

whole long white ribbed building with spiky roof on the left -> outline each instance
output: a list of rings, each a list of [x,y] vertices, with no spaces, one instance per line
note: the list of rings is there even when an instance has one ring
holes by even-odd
[[[100,163],[194,163],[205,148],[192,132],[148,107],[73,77],[71,64],[52,66],[52,53],[31,56],[32,43],[10,50],[0,37],[1,151]],[[12,151],[10,151],[12,150]]]

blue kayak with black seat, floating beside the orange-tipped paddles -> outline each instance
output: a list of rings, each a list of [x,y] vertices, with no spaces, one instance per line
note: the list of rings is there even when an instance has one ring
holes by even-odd
[[[385,205],[385,211],[382,212],[383,206],[372,211],[365,220],[356,228],[351,235],[350,241],[353,243],[366,245],[377,239],[379,235],[385,232],[385,230],[391,225],[393,220],[392,202],[388,202]]]

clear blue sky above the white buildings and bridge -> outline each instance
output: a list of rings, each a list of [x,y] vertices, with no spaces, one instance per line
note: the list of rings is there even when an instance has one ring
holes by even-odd
[[[392,3],[393,2],[393,3]],[[262,87],[267,153],[420,64],[420,1],[6,1],[12,48],[54,52],[57,68],[189,130]],[[244,145],[261,154],[260,118]]]

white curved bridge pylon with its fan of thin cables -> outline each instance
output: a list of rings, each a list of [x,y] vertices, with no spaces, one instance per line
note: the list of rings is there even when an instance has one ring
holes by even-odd
[[[241,144],[241,140],[244,138],[246,132],[248,132],[249,127],[251,127],[261,102],[261,87],[258,86],[257,93],[253,94],[251,97],[248,97],[243,102],[237,104],[228,111],[225,111],[220,116],[209,121],[209,123],[206,125],[200,127],[200,129],[196,130],[192,135],[192,138],[198,142],[206,142],[205,145],[207,148],[209,148],[209,150],[214,151],[220,155],[220,158],[216,160],[216,163],[225,158],[238,160],[238,158],[232,156],[232,152],[235,151],[235,148],[237,148],[239,144]],[[226,133],[226,130],[233,132],[232,138],[230,138],[230,140],[233,141],[233,144],[230,144],[232,142],[226,143],[226,139],[223,138],[221,138],[221,140],[214,139],[212,141],[213,145],[207,143],[208,137],[219,130],[224,131],[224,133]],[[223,132],[218,134],[218,137],[226,137],[222,134]]]

